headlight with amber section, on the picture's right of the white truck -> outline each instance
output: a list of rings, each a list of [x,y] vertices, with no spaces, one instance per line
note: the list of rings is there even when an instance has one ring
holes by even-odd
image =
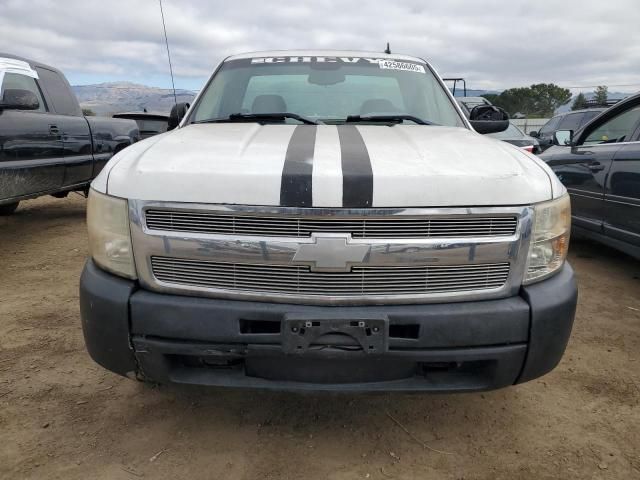
[[[535,205],[525,284],[542,280],[564,265],[570,233],[571,204],[568,194]]]

